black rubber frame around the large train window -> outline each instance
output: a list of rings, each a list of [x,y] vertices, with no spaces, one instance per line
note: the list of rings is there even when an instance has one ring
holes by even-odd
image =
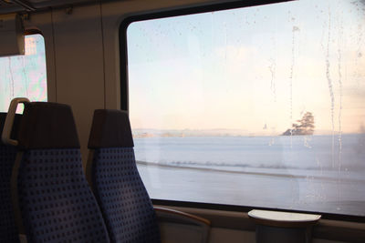
[[[223,4],[203,5],[196,7],[185,7],[175,10],[159,11],[151,14],[142,15],[130,15],[125,17],[119,28],[119,40],[120,40],[120,109],[129,112],[129,79],[128,79],[128,50],[127,50],[127,29],[133,22],[152,20],[158,18],[182,16],[182,15],[193,15],[202,14],[206,12],[214,12],[220,10],[228,10],[240,7],[250,7],[256,5],[270,5],[279,4],[285,2],[292,2],[297,0],[251,0],[251,1],[235,1]],[[353,216],[346,214],[334,214],[334,213],[323,213],[318,211],[305,211],[295,209],[284,209],[284,208],[262,208],[255,207],[255,205],[239,206],[239,205],[224,205],[216,203],[203,203],[193,201],[176,201],[167,199],[151,198],[154,205],[182,207],[182,208],[203,208],[203,209],[214,209],[214,210],[225,210],[225,211],[239,211],[248,212],[252,209],[263,209],[263,210],[276,210],[283,212],[297,212],[297,213],[312,213],[319,214],[322,219],[340,220],[340,221],[351,221],[365,223],[365,217]]]

